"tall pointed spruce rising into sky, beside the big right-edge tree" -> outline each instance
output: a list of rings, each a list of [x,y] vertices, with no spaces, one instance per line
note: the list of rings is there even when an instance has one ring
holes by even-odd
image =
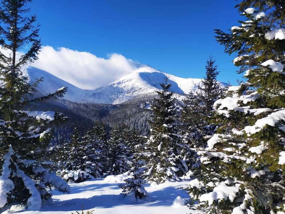
[[[198,86],[195,94],[191,91],[186,95],[180,116],[179,133],[184,145],[182,154],[190,169],[189,175],[199,170],[199,159],[195,151],[205,148],[207,139],[214,134],[216,126],[209,122],[209,116],[213,110],[213,103],[224,94],[223,86],[217,81],[219,71],[212,56],[209,56],[205,68],[206,75],[201,81],[202,86]]]

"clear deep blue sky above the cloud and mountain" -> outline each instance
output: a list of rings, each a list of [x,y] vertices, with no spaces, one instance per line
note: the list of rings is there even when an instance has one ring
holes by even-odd
[[[120,53],[180,77],[203,78],[208,56],[218,79],[236,84],[241,75],[214,38],[242,17],[235,0],[34,0],[43,45],[87,51],[107,58]]]

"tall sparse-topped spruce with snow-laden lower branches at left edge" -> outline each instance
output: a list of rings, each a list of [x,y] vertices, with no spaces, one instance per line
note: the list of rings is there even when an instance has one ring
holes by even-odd
[[[0,7],[0,46],[8,54],[0,52],[0,208],[10,203],[23,203],[30,210],[41,208],[42,200],[51,197],[52,187],[70,191],[60,177],[50,173],[42,151],[51,139],[51,126],[66,116],[55,112],[24,111],[30,102],[63,97],[66,88],[44,97],[33,98],[36,87],[22,75],[21,69],[38,59],[40,40],[39,25],[34,27],[36,16],[23,17],[29,12],[23,0],[3,0]],[[19,50],[31,45],[18,55]],[[18,56],[17,56],[18,55]]]

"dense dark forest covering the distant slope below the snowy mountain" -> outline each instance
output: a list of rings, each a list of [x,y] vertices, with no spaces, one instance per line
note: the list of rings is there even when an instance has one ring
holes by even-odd
[[[76,103],[61,99],[30,104],[27,110],[52,110],[62,112],[70,118],[64,123],[64,126],[62,124],[54,126],[52,144],[70,140],[70,134],[74,127],[78,127],[84,135],[94,124],[100,123],[105,124],[107,133],[111,128],[124,123],[127,128],[136,128],[142,135],[147,135],[149,133],[149,104],[152,97],[153,95],[140,96],[118,105]]]

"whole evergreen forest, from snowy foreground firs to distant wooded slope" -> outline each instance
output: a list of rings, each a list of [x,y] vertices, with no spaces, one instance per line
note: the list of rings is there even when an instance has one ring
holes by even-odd
[[[0,46],[11,52],[0,51],[0,212],[62,211],[53,192],[72,195],[89,181],[118,183],[122,200],[144,206],[148,188],[187,181],[187,201],[172,207],[285,213],[284,1],[241,0],[240,25],[215,29],[225,54],[237,54],[238,86],[217,80],[210,55],[195,93],[174,93],[166,77],[156,93],[122,104],[71,102],[67,87],[35,96],[44,77],[31,84],[22,72],[41,50],[29,2],[3,0],[0,10]],[[99,213],[81,201],[90,208],[82,213]]]

